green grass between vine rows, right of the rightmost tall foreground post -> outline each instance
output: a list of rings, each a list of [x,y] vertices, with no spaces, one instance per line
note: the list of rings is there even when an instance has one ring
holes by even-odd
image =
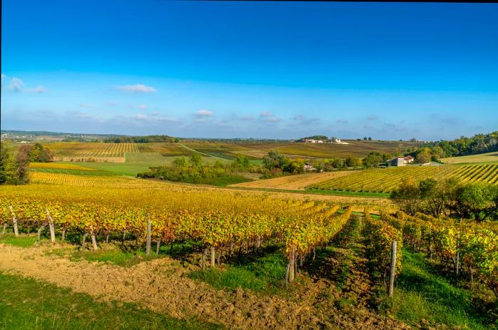
[[[403,249],[403,270],[395,285],[393,300],[385,303],[397,319],[408,324],[425,319],[433,326],[445,324],[452,329],[497,329],[487,324],[490,320],[472,299],[472,292],[437,275],[423,253]]]

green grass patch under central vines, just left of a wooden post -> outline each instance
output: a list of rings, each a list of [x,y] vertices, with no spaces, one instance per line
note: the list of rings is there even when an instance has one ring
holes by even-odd
[[[287,260],[278,248],[269,246],[265,250],[267,253],[245,255],[241,260],[221,268],[195,270],[189,277],[206,282],[217,289],[235,290],[241,287],[264,294],[282,294],[285,290]]]

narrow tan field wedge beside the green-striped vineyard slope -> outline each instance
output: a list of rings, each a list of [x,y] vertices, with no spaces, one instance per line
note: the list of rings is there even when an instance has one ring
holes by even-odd
[[[353,171],[337,171],[337,172],[323,172],[323,173],[308,173],[302,175],[288,175],[285,177],[275,177],[267,180],[257,180],[253,182],[243,182],[232,187],[249,187],[249,188],[263,188],[263,189],[290,189],[290,190],[304,190],[309,185],[317,185],[336,177],[343,177],[350,175]]]

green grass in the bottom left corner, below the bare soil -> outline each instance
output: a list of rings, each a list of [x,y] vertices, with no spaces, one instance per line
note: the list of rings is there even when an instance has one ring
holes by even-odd
[[[90,295],[0,273],[0,330],[224,329],[196,319],[175,319],[136,304],[96,302]]]

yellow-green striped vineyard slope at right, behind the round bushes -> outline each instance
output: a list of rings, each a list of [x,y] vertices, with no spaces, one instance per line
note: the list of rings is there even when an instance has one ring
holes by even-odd
[[[363,170],[308,187],[351,192],[392,192],[408,177],[415,180],[430,177],[438,179],[457,177],[462,182],[487,182],[498,185],[498,164],[413,166]]]

